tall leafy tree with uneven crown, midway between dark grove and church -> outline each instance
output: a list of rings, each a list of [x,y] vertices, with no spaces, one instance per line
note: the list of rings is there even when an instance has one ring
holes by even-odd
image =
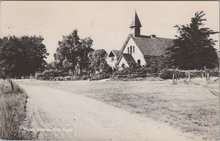
[[[58,42],[59,47],[54,55],[56,66],[66,71],[69,69],[74,71],[76,66],[79,67],[80,72],[88,69],[88,53],[93,51],[92,43],[93,40],[89,37],[80,39],[77,30],[63,36],[63,40]]]

